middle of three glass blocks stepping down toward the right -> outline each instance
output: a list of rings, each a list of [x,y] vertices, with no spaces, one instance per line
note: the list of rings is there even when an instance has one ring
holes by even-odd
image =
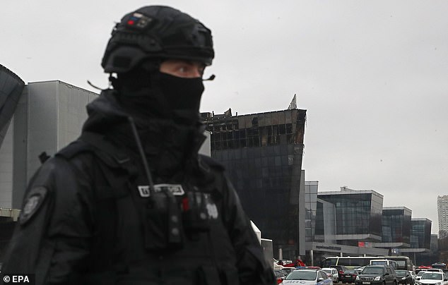
[[[382,243],[411,243],[412,211],[406,207],[384,207]]]

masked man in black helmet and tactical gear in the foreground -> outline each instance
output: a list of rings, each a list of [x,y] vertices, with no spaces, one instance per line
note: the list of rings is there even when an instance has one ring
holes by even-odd
[[[223,166],[204,142],[211,31],[167,6],[126,14],[102,67],[113,89],[26,191],[2,273],[36,284],[273,284]]]

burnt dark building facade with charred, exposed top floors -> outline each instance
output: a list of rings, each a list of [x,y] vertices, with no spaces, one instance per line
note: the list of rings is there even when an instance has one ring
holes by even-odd
[[[300,171],[306,110],[202,116],[211,132],[211,157],[225,165],[249,218],[273,240],[274,253],[282,248],[288,259],[305,254],[299,205],[305,202]]]

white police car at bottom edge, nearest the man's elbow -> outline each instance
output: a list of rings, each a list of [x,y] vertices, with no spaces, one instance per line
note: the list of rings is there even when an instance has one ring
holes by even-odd
[[[322,270],[297,269],[288,274],[282,285],[333,285],[333,280]]]

